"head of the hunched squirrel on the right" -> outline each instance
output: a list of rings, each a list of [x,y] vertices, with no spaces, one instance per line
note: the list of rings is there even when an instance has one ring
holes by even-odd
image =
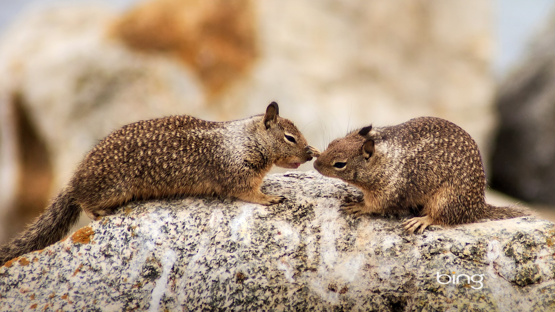
[[[355,130],[344,138],[333,140],[314,162],[314,168],[326,177],[355,183],[376,162],[372,126]]]

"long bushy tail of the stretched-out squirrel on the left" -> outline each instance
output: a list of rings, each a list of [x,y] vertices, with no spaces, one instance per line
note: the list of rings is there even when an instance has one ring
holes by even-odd
[[[34,250],[56,243],[79,220],[81,208],[64,189],[33,224],[6,245],[0,247],[0,265]]]

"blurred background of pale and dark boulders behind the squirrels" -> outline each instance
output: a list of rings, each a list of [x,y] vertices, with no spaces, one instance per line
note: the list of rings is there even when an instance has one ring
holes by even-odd
[[[488,201],[555,220],[554,2],[0,0],[0,242],[121,125],[272,100],[322,150],[449,119],[480,145]]]

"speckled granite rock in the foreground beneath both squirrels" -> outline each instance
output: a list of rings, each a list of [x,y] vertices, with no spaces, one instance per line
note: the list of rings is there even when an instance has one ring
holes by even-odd
[[[264,189],[289,201],[131,203],[0,268],[0,309],[555,310],[553,223],[404,234],[398,218],[337,213],[361,193],[315,172],[271,175]]]

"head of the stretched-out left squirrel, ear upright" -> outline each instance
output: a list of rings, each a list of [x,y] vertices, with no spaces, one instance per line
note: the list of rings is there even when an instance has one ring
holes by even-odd
[[[307,145],[305,137],[291,120],[280,117],[276,102],[266,108],[260,129],[276,155],[274,164],[278,167],[296,169],[320,153]]]

